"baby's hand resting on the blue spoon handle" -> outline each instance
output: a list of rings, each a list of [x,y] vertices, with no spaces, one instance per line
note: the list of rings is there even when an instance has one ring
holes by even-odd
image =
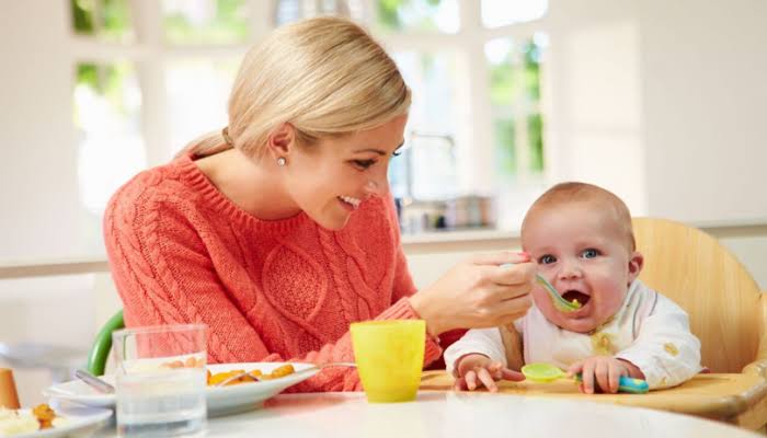
[[[615,394],[618,392],[618,380],[621,376],[629,376],[637,379],[644,379],[644,373],[628,360],[617,359],[611,356],[594,356],[588,359],[577,361],[570,366],[568,376],[577,373],[583,377],[581,392],[593,394],[597,388],[602,392]]]

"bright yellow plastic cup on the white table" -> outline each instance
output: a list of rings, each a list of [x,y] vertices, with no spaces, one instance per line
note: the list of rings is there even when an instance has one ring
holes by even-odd
[[[357,322],[352,324],[351,331],[367,401],[397,403],[415,400],[423,369],[426,322]]]

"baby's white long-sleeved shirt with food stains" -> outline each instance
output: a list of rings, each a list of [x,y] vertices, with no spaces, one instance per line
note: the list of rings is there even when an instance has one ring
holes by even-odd
[[[687,313],[640,280],[629,288],[623,306],[593,334],[566,331],[549,322],[535,306],[514,322],[523,337],[525,364],[549,362],[566,370],[593,356],[615,356],[639,367],[650,389],[680,384],[700,372],[700,342],[689,330]],[[506,366],[497,327],[476,328],[445,350],[447,371],[456,361],[479,353]]]

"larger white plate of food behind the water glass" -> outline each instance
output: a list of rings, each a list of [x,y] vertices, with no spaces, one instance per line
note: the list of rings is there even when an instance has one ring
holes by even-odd
[[[250,371],[260,369],[264,373],[287,362],[244,362],[208,365],[211,373],[241,369]],[[279,379],[261,382],[242,383],[230,387],[208,387],[205,391],[208,401],[208,415],[220,416],[245,412],[261,406],[266,399],[283,392],[286,388],[314,376],[319,369],[312,364],[291,364],[296,372]],[[114,383],[113,376],[103,378]],[[114,407],[114,394],[101,394],[80,380],[55,384],[43,391],[43,394],[56,400],[66,400],[94,407]]]

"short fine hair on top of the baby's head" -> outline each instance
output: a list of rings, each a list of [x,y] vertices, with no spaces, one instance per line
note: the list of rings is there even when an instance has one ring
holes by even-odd
[[[621,233],[626,237],[629,252],[637,250],[629,207],[613,192],[594,184],[569,182],[560,183],[549,188],[527,210],[527,215],[525,215],[525,219],[522,222],[522,229],[525,229],[528,218],[534,211],[574,203],[592,203],[605,212],[611,212],[615,223],[618,224]]]

